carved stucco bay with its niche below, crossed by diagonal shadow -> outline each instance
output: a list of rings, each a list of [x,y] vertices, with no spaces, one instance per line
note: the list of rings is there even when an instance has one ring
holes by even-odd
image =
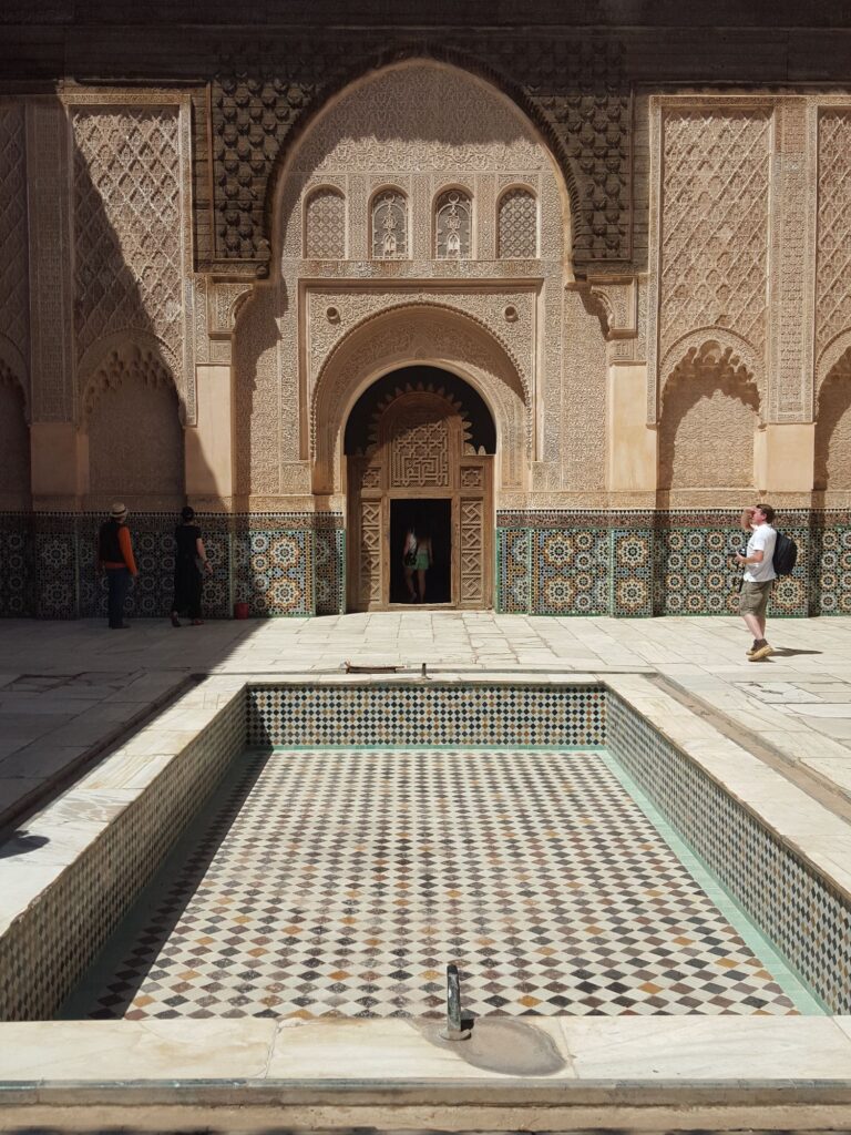
[[[76,377],[90,491],[179,496],[182,421],[195,417],[188,103],[151,93],[69,103]]]

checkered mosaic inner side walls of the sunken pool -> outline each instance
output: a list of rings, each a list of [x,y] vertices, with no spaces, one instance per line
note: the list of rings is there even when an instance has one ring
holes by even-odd
[[[238,687],[96,830],[59,824],[27,864],[36,883],[14,876],[35,889],[0,927],[0,1019],[57,1010],[246,745],[608,747],[829,1010],[851,1011],[848,894],[605,683],[346,680]],[[65,819],[73,793],[51,806]]]

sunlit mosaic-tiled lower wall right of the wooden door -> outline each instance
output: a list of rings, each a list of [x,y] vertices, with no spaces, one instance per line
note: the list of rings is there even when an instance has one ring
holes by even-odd
[[[799,561],[794,574],[776,585],[772,613],[851,611],[851,527],[834,526],[829,514],[783,519]],[[733,552],[744,543],[738,513],[505,512],[497,526],[497,596],[506,613],[738,612],[741,569]]]

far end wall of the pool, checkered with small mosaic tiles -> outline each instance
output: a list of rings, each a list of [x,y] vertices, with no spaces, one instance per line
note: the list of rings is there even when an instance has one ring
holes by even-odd
[[[255,686],[248,745],[605,743],[599,686]]]

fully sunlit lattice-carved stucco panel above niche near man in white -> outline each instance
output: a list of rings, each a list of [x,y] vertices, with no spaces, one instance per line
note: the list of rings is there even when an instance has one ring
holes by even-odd
[[[650,389],[657,418],[680,342],[725,330],[765,368],[772,108],[747,98],[651,99]],[[710,336],[707,336],[710,337]]]

